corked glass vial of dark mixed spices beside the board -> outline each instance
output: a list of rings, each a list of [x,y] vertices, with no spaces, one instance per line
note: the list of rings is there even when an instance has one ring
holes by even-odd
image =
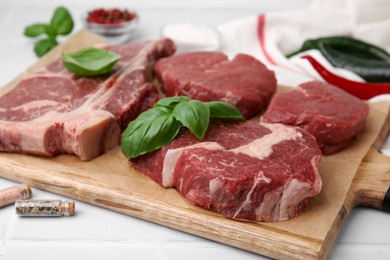
[[[74,201],[64,200],[17,200],[16,214],[26,217],[73,216]]]

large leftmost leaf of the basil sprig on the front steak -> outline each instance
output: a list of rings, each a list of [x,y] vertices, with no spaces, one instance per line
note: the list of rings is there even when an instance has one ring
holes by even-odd
[[[121,149],[127,158],[135,158],[169,144],[180,130],[172,110],[155,107],[130,122],[122,134]]]

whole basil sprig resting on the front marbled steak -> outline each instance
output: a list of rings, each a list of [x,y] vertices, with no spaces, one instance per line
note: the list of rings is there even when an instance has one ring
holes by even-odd
[[[202,140],[210,118],[244,120],[237,108],[225,102],[201,102],[182,96],[160,99],[127,126],[122,134],[122,152],[127,158],[153,152],[171,143],[181,127]]]

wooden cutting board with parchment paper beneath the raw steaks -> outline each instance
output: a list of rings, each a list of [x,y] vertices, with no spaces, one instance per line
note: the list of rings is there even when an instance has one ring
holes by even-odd
[[[61,51],[100,43],[101,39],[82,30],[23,75],[48,64]],[[2,92],[14,87],[21,77]],[[347,149],[321,161],[320,195],[300,216],[283,222],[234,221],[191,205],[175,189],[162,188],[130,168],[120,147],[90,162],[71,155],[42,158],[0,153],[0,176],[257,254],[322,259],[354,206],[382,207],[390,185],[390,159],[375,149],[388,133],[389,108],[389,103],[370,104],[365,132]]]

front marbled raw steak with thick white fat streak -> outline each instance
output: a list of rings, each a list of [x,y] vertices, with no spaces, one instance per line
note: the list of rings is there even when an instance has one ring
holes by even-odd
[[[321,151],[305,130],[282,124],[214,123],[203,141],[182,130],[132,167],[190,202],[226,217],[281,221],[321,190]]]

